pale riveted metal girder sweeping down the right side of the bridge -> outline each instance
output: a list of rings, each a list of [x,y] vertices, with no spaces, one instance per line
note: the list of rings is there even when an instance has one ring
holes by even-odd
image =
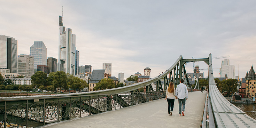
[[[255,128],[256,120],[226,100],[219,92],[214,75],[212,74],[212,60],[209,55],[209,96],[214,112],[217,128]]]

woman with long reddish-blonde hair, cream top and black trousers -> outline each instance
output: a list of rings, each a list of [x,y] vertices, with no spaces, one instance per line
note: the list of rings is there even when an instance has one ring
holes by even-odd
[[[165,100],[167,99],[167,102],[168,102],[168,114],[169,115],[172,115],[175,97],[177,99],[177,96],[175,95],[175,88],[174,88],[173,82],[170,82],[169,87],[166,89],[166,97],[165,97]]]

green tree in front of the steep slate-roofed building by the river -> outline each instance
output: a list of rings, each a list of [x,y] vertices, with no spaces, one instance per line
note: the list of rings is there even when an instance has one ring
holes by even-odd
[[[112,79],[101,79],[99,83],[96,83],[96,86],[94,87],[95,90],[104,90],[104,89],[110,89],[115,88],[115,83]]]

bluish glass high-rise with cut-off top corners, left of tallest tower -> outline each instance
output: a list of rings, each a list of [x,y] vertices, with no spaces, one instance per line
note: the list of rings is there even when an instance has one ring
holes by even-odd
[[[34,72],[37,72],[37,65],[47,65],[47,48],[43,41],[34,41],[30,47],[30,55],[34,56]]]

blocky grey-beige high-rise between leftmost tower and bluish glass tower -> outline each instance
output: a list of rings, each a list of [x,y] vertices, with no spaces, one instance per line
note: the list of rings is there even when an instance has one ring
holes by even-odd
[[[18,55],[18,74],[30,78],[34,74],[34,56]]]

